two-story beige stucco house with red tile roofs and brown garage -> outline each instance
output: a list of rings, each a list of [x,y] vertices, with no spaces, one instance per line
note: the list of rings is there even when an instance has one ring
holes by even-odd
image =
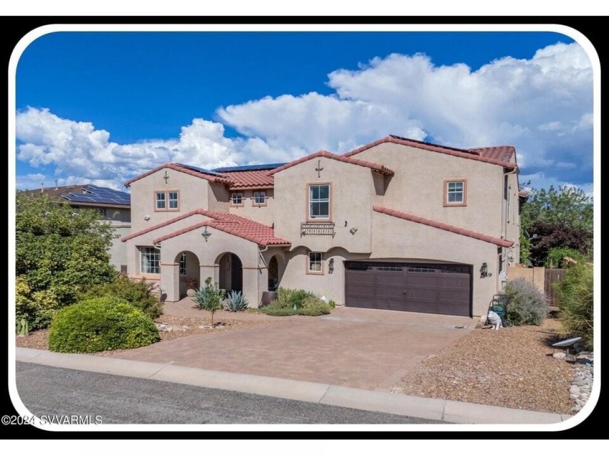
[[[131,187],[127,268],[167,301],[186,279],[305,288],[339,305],[481,316],[519,260],[511,146],[387,136],[345,154],[205,170],[161,165]]]

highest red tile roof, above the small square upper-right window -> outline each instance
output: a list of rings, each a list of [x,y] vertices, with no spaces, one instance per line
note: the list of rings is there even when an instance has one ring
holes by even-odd
[[[347,152],[343,156],[351,157],[355,154],[359,154],[360,152],[368,150],[371,147],[375,147],[384,142],[402,144],[402,145],[406,145],[406,146],[410,146],[410,147],[416,147],[418,149],[431,150],[434,152],[449,154],[449,155],[456,156],[456,157],[468,158],[470,160],[477,160],[480,162],[487,162],[487,163],[491,163],[491,164],[495,164],[495,165],[501,165],[505,168],[515,168],[516,167],[516,164],[507,162],[503,159],[505,157],[507,148],[512,148],[512,146],[501,146],[498,148],[486,147],[486,148],[484,148],[484,150],[492,149],[493,151],[481,153],[480,150],[476,150],[476,149],[458,149],[456,147],[442,146],[442,145],[438,145],[438,144],[432,144],[430,142],[417,141],[414,139],[403,138],[400,136],[393,136],[393,135],[385,136],[384,138],[376,140],[375,142],[371,142],[371,143],[366,144],[362,147],[359,147],[355,150]],[[495,149],[498,149],[500,151],[494,151]],[[502,159],[498,159],[497,158],[498,156],[500,156]]]

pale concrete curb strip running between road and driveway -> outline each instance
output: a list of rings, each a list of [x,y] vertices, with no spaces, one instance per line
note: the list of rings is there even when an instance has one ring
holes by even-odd
[[[532,410],[508,409],[470,402],[420,398],[322,383],[206,370],[171,363],[130,361],[89,354],[54,353],[23,347],[16,347],[15,356],[16,361],[21,362],[238,391],[296,401],[317,402],[370,412],[393,413],[394,415],[445,421],[446,423],[551,424],[571,418],[571,415],[560,415],[558,413],[533,412]]]

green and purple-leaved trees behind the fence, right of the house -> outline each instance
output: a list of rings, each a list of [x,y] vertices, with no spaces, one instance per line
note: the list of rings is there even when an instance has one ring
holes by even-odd
[[[542,266],[549,250],[555,247],[588,254],[592,249],[592,198],[579,188],[566,186],[528,191],[529,198],[520,213],[521,262]]]

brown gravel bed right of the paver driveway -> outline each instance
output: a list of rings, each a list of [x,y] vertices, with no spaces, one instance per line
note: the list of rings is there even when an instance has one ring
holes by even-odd
[[[392,392],[513,409],[573,414],[572,361],[553,358],[560,323],[476,328],[396,384]]]

